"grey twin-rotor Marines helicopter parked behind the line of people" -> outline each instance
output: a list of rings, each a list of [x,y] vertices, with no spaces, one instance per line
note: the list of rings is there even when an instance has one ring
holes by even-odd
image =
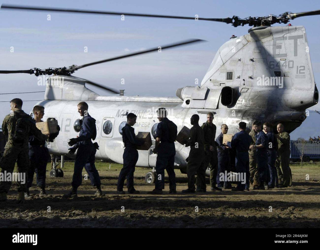
[[[75,9],[38,8],[28,6],[2,5],[1,9],[60,11],[73,13],[92,13],[105,15],[127,15],[137,17],[195,19],[193,17],[135,14],[122,12],[85,11]],[[85,84],[93,84],[107,89],[91,81],[72,76],[76,70],[124,57],[135,56],[156,49],[140,51],[121,57],[63,68],[40,70],[33,68],[23,71],[0,71],[0,73],[29,73],[54,75],[48,81],[63,78],[59,84],[48,84],[44,100],[37,103],[45,107],[45,119],[56,119],[61,131],[54,142],[48,145],[54,155],[68,154],[68,140],[79,133],[79,114],[75,109],[80,101],[89,104],[90,114],[97,119],[97,141],[100,150],[97,159],[110,159],[123,163],[124,145],[121,128],[126,123],[126,114],[135,113],[138,117],[135,132],[150,132],[155,135],[158,124],[155,110],[160,107],[168,109],[168,118],[177,126],[190,128],[190,117],[200,116],[200,122],[206,121],[206,114],[213,112],[214,123],[219,129],[227,124],[229,133],[236,133],[238,123],[244,121],[248,127],[254,120],[271,122],[275,130],[277,123],[284,124],[288,133],[299,127],[306,119],[306,109],[318,102],[318,90],[314,80],[308,41],[303,26],[278,26],[275,23],[287,24],[297,17],[319,15],[318,11],[300,13],[285,12],[279,16],[249,17],[240,19],[237,16],[224,19],[197,18],[198,20],[217,21],[232,24],[234,27],[248,24],[253,26],[248,34],[231,37],[225,42],[205,74],[201,86],[183,87],[176,91],[177,97],[146,96],[101,96]],[[174,47],[200,40],[189,40],[163,47]],[[217,131],[219,133],[219,130]],[[216,136],[218,135],[216,134]],[[189,148],[175,143],[175,168],[185,173]],[[156,155],[148,151],[139,151],[137,166],[150,167],[153,171],[146,175],[146,181],[152,183],[155,178]]]

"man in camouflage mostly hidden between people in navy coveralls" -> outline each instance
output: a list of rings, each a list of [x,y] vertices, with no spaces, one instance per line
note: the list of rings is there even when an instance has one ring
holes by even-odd
[[[252,130],[250,131],[249,135],[252,138],[252,143],[251,145],[256,144],[256,135],[257,135],[257,130],[255,129],[255,125],[257,125],[259,121],[255,121],[252,124]],[[257,126],[256,126],[257,127]],[[257,168],[257,154],[256,150],[249,150],[249,170],[250,170],[250,183],[253,186],[259,186],[259,173],[258,173],[258,168]]]

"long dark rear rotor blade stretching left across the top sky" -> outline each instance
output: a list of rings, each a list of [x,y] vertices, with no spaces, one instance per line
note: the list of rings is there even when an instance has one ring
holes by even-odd
[[[87,11],[77,9],[62,9],[62,8],[39,8],[35,6],[22,6],[12,4],[2,4],[1,8],[12,10],[27,10],[27,11],[57,11],[57,12],[70,12],[70,13],[87,13],[87,14],[102,14],[102,15],[125,15],[135,17],[155,17],[155,18],[173,18],[173,19],[193,19],[193,20],[206,20],[216,22],[230,23],[230,18],[196,18],[196,17],[181,17],[181,16],[168,16],[168,15],[152,15],[152,14],[139,14],[139,13],[127,13],[127,12],[113,12],[113,11]]]

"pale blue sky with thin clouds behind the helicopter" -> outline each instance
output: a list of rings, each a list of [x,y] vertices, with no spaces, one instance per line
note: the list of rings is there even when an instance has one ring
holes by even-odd
[[[123,11],[205,18],[226,18],[233,15],[279,15],[285,11],[301,12],[320,9],[314,1],[0,1],[0,4],[21,4],[101,11]],[[76,3],[76,5],[75,5]],[[51,14],[51,20],[47,15]],[[319,16],[301,17],[292,25],[306,27],[310,56],[316,82],[320,78]],[[99,64],[81,69],[75,76],[99,82],[126,95],[175,96],[177,88],[201,82],[216,51],[232,34],[247,34],[249,26],[233,27],[224,23],[182,19],[156,19],[55,12],[0,11],[1,70],[25,70],[33,67],[81,65],[118,56],[140,49],[152,48],[189,38],[207,40],[162,53],[151,53]],[[10,52],[10,47],[14,52]],[[84,47],[88,52],[84,53]],[[121,85],[121,79],[125,84]],[[0,76],[0,93],[43,91],[37,77],[27,74]],[[90,87],[100,95],[104,91]],[[43,93],[0,95],[1,101],[15,97],[22,100],[42,100]],[[35,102],[25,102],[29,112]],[[320,110],[316,105],[309,110]],[[0,102],[0,122],[10,112],[9,102]],[[314,124],[320,119],[310,113],[307,120],[292,134],[292,139],[317,136]]]

